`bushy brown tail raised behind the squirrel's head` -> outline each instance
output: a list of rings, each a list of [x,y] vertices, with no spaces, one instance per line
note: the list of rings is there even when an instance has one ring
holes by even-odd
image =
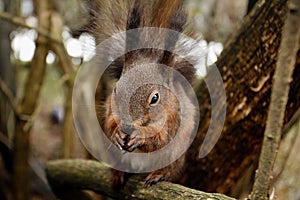
[[[110,71],[113,72],[114,77],[119,78],[124,70],[134,64],[137,59],[151,57],[151,60],[156,60],[158,63],[177,69],[188,80],[193,79],[195,69],[191,63],[184,60],[184,58],[178,59],[178,56],[176,57],[172,53],[173,49],[178,48],[177,41],[180,33],[192,35],[187,27],[187,13],[182,0],[85,1],[89,11],[89,25],[86,29],[95,37],[96,44],[100,44],[112,35],[126,30],[145,27],[162,28],[162,31],[157,32],[157,35],[150,35],[149,38],[145,38],[147,34],[142,35],[143,37],[140,36],[138,31],[138,34],[135,33],[133,36],[126,34],[126,38],[122,41],[125,49],[136,50],[126,51],[127,53],[124,56],[113,62]],[[165,31],[167,29],[173,31]],[[161,41],[165,50],[138,48],[147,46],[144,43],[161,43]],[[185,44],[180,45],[181,51],[188,51]],[[162,46],[162,44],[159,44],[159,46]],[[188,52],[185,52],[185,54],[188,54]]]

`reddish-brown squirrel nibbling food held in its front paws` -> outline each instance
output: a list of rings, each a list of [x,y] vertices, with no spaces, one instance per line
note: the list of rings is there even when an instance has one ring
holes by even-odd
[[[180,0],[86,0],[86,2],[90,18],[88,26],[85,28],[86,32],[95,37],[96,44],[100,44],[120,31],[143,27],[165,28],[192,35],[189,32],[184,4]],[[170,40],[168,34],[157,34],[156,38],[163,38],[165,46],[168,46],[169,49],[175,48],[178,37],[172,37]],[[138,41],[143,39],[147,40],[147,38],[137,38]],[[155,38],[150,40],[155,40]],[[133,45],[132,41],[126,39],[126,48],[130,45]],[[167,84],[169,83],[168,87],[173,88],[178,94],[174,94],[162,85],[153,83],[138,87],[128,102],[131,119],[128,120],[120,113],[118,105],[122,104],[124,99],[122,95],[130,90],[129,85],[134,85],[132,82],[129,83],[134,80],[123,79],[120,82],[120,79],[128,73],[134,74],[135,69],[138,69],[136,77],[142,79],[143,76],[146,76],[142,67],[150,63],[163,64],[178,71],[191,84],[195,78],[194,66],[168,50],[136,49],[116,59],[108,67],[108,71],[117,80],[117,83],[103,104],[104,116],[99,116],[98,120],[104,119],[104,122],[99,121],[99,123],[104,126],[105,134],[120,151],[154,152],[172,141],[179,131],[179,126],[183,127],[180,129],[183,133],[179,138],[182,143],[190,139],[190,133],[194,129],[197,111],[184,91],[183,83],[178,81],[175,83],[166,81]],[[150,73],[159,73],[159,67],[158,70],[157,68],[153,69],[153,72],[150,70]],[[172,80],[171,76],[170,74],[163,78]],[[156,76],[150,78],[155,79]],[[180,108],[182,102],[184,112]],[[96,106],[97,108],[98,106]],[[184,163],[185,154],[168,166],[150,172],[145,178],[145,186],[151,186],[159,181],[176,182],[184,170]],[[112,169],[111,174],[113,187],[125,184],[125,172]]]

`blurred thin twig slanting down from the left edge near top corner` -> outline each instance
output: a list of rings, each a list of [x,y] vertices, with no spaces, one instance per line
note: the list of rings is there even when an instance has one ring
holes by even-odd
[[[60,39],[54,37],[48,31],[46,31],[42,28],[33,27],[33,26],[26,24],[25,21],[23,20],[23,18],[16,17],[7,12],[0,12],[0,18],[4,19],[12,24],[15,24],[15,25],[22,26],[22,27],[28,28],[28,29],[36,30],[39,34],[46,37],[47,39],[49,39],[55,43],[62,44],[62,41]]]

